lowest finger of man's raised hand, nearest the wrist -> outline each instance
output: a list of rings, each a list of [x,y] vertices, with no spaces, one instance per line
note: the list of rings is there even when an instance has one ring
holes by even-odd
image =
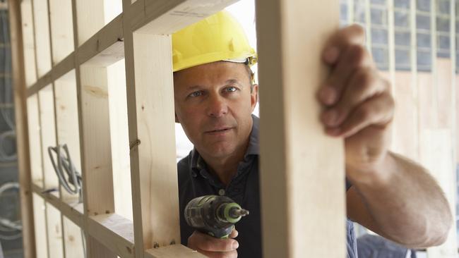
[[[386,126],[393,119],[393,99],[388,92],[357,106],[340,127],[326,128],[333,136],[350,137],[370,125]]]

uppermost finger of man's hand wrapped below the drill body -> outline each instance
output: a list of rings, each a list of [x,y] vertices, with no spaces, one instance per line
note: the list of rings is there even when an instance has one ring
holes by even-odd
[[[194,231],[188,239],[188,246],[209,252],[229,252],[236,250],[239,247],[239,242],[232,238],[213,238],[210,235]]]

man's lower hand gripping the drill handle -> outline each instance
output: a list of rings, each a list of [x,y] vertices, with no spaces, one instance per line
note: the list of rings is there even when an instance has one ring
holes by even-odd
[[[188,238],[188,247],[210,258],[235,258],[237,257],[239,242],[232,238],[236,238],[237,234],[234,229],[229,238],[220,239],[194,231]]]

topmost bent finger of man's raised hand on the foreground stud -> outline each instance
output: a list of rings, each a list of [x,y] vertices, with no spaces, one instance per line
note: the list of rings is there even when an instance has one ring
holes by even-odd
[[[323,50],[323,61],[333,65],[338,61],[340,53],[344,53],[345,49],[351,45],[364,45],[365,30],[362,26],[354,24],[338,30],[333,37],[326,43]]]

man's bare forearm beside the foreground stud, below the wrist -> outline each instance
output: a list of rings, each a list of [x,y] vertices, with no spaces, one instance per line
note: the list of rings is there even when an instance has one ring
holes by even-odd
[[[422,166],[389,153],[373,172],[350,180],[381,231],[376,233],[409,247],[446,240],[451,211],[441,188]]]

